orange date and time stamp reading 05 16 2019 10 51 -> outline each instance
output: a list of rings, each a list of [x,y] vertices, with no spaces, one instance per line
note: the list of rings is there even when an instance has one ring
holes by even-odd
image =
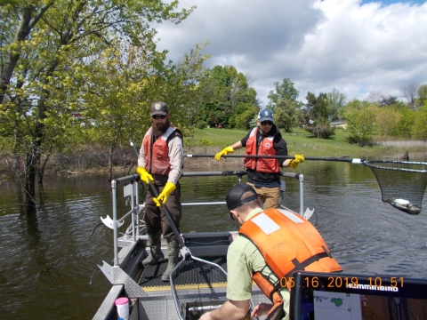
[[[376,286],[376,287],[381,287],[384,284],[389,285],[389,281],[388,279],[383,279],[381,276],[375,276],[375,277],[368,277],[367,280],[369,281],[369,285],[371,286]],[[319,282],[318,282],[318,277],[317,276],[306,276],[302,278],[302,281],[305,282],[305,286],[308,288],[313,288],[316,289],[318,288]],[[328,288],[348,288],[348,287],[353,287],[356,288],[359,285],[359,278],[357,276],[329,276],[327,278],[328,283],[326,284],[326,287]],[[404,284],[404,279],[403,276],[391,276],[390,278],[390,286],[392,288],[396,288],[396,287],[403,287]],[[294,277],[290,276],[290,277],[282,277],[280,278],[280,286],[282,288],[293,288],[295,285],[294,283]]]

